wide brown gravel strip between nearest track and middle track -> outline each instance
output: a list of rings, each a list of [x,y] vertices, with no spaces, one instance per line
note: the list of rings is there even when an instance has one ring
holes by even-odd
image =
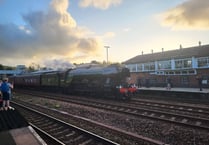
[[[62,110],[127,132],[157,139],[170,145],[208,145],[209,132],[176,126],[171,123],[128,116],[107,110],[28,96],[16,97],[26,102]]]

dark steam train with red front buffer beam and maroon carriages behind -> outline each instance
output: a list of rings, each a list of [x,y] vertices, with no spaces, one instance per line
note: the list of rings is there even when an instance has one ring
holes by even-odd
[[[129,77],[129,70],[121,65],[89,65],[65,71],[39,71],[11,76],[10,81],[20,89],[130,99],[136,90],[128,86]]]

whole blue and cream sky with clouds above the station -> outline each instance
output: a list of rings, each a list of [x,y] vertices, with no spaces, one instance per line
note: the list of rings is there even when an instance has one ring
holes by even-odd
[[[0,0],[3,65],[122,63],[208,38],[208,0]]]

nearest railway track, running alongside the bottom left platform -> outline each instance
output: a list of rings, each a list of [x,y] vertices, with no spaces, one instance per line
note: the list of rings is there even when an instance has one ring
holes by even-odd
[[[50,115],[31,109],[24,105],[14,103],[14,107],[20,110],[23,116],[30,122],[47,144],[56,145],[118,145],[108,139],[73,126]],[[53,141],[52,141],[53,139]],[[56,142],[54,142],[56,141]]]

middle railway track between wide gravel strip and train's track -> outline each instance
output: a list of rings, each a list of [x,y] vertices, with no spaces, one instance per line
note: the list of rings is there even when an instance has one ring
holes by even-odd
[[[209,131],[209,126],[208,126],[209,119],[172,113],[169,111],[170,108],[168,108],[167,110],[165,110],[164,108],[164,110],[161,111],[156,109],[153,110],[153,108],[146,109],[142,107],[139,108],[139,107],[127,106],[126,103],[125,104],[122,103],[120,105],[115,103],[102,103],[102,102],[88,102],[87,104],[86,102],[83,103],[83,102],[73,101],[73,103],[89,105],[91,107],[96,107],[104,110],[125,113],[133,116],[146,117],[149,119],[166,121],[177,125],[187,126],[196,129],[204,129]]]

